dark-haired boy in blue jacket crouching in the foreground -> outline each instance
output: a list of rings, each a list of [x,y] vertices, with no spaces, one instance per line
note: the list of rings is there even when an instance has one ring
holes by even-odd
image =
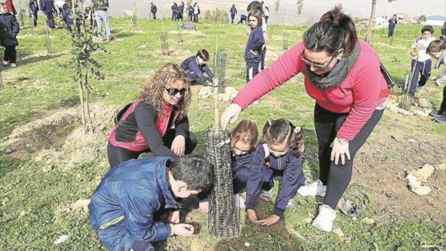
[[[212,165],[204,157],[132,159],[109,170],[91,196],[90,226],[109,250],[154,250],[152,242],[188,236],[194,227],[179,223],[179,204],[208,191]],[[168,223],[155,215],[169,212]]]

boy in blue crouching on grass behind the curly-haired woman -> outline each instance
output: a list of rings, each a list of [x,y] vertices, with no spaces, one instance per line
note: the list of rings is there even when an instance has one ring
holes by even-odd
[[[207,52],[206,49],[201,49],[197,52],[197,55],[184,59],[180,67],[186,72],[190,82],[201,80],[203,83],[208,83],[214,78],[214,74],[206,65],[207,61],[209,61],[209,52]],[[207,79],[204,76],[204,73],[206,73],[210,79]]]

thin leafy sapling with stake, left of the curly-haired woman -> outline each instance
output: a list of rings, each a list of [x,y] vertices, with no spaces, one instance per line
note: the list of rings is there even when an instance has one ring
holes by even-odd
[[[90,116],[90,91],[92,87],[88,83],[88,74],[92,73],[97,79],[103,79],[99,71],[101,65],[91,58],[91,54],[97,50],[107,52],[103,47],[93,42],[93,32],[87,24],[88,13],[94,8],[84,8],[85,0],[75,0],[73,3],[74,28],[71,34],[71,60],[70,63],[76,67],[76,76],[73,81],[79,85],[79,98],[82,107],[82,125],[84,131],[93,131],[93,123]]]

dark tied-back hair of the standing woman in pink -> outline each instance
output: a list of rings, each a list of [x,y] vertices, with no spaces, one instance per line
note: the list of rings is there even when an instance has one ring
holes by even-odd
[[[337,54],[343,48],[344,54],[349,55],[356,44],[356,34],[353,19],[344,14],[341,5],[322,15],[319,22],[313,24],[304,33],[305,47],[311,51],[327,51],[330,55]]]

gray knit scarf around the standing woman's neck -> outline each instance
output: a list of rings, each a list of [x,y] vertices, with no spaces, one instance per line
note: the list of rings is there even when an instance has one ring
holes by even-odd
[[[328,73],[328,75],[317,75],[313,71],[310,70],[310,66],[305,64],[305,69],[308,78],[313,86],[320,89],[330,89],[333,87],[337,87],[344,81],[347,74],[350,72],[350,69],[358,59],[359,52],[361,51],[361,46],[359,43],[356,44],[355,49],[353,49],[350,55],[342,57],[336,65],[334,65],[333,69]]]

